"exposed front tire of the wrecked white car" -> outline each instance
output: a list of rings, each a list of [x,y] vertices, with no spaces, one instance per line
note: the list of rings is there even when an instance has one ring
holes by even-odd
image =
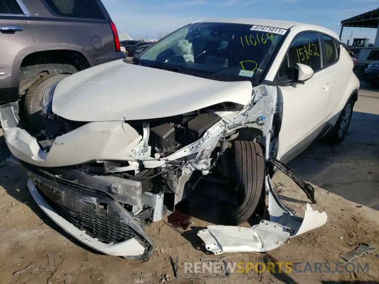
[[[262,148],[251,141],[235,141],[233,164],[238,194],[237,206],[226,211],[231,225],[240,225],[254,214],[263,190],[265,160]]]

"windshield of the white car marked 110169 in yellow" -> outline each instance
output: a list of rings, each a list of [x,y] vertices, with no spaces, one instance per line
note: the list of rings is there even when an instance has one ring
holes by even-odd
[[[136,61],[212,80],[257,84],[283,35],[253,27],[192,23],[147,48]]]

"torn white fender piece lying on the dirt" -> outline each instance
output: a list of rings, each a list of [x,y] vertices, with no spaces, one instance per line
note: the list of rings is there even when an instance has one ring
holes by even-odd
[[[265,252],[280,247],[293,237],[323,226],[327,221],[326,212],[313,210],[309,203],[304,218],[295,216],[280,201],[271,181],[266,176],[269,192],[270,221],[263,220],[251,228],[238,226],[211,225],[197,235],[204,241],[208,251],[219,255],[235,252]]]

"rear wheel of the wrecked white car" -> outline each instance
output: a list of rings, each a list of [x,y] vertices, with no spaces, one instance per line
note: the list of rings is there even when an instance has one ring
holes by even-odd
[[[346,103],[345,107],[341,111],[341,114],[334,125],[332,133],[330,133],[330,136],[326,139],[329,144],[338,145],[343,141],[349,129],[353,108],[354,99],[350,98],[350,100]]]

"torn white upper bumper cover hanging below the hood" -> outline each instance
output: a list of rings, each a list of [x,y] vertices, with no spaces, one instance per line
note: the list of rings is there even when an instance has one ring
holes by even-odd
[[[37,139],[18,126],[14,107],[0,108],[4,137],[18,159],[41,167],[63,167],[93,160],[130,160],[141,136],[122,121],[91,122],[57,137],[44,151]],[[96,143],[93,143],[96,141]]]

